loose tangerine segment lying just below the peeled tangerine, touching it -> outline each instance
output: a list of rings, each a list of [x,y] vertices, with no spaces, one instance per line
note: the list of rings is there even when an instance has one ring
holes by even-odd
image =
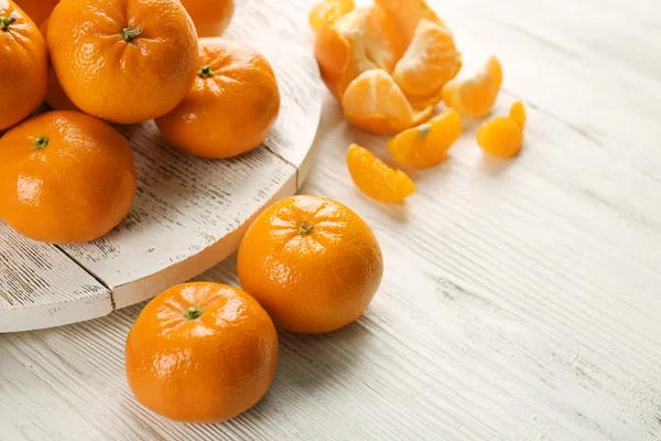
[[[430,121],[405,130],[388,142],[388,150],[398,161],[416,169],[437,165],[462,135],[462,119],[454,109],[446,109]]]

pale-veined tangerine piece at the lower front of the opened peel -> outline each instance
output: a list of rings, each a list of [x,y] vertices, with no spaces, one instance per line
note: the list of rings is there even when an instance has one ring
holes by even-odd
[[[387,72],[367,71],[351,82],[342,100],[345,118],[377,133],[399,133],[427,119],[434,108],[414,109]]]

